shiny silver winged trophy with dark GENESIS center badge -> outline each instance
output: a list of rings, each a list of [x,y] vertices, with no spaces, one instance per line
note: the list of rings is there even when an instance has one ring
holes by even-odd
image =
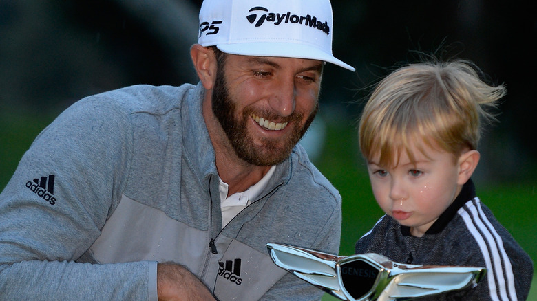
[[[483,267],[395,263],[375,253],[336,256],[267,243],[274,263],[341,300],[412,300],[475,287]]]

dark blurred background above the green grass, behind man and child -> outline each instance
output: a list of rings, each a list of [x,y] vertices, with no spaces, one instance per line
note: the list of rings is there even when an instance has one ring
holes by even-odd
[[[0,118],[55,115],[84,96],[126,85],[196,82],[189,46],[196,43],[200,3],[0,0]],[[472,60],[508,91],[500,123],[489,126],[481,145],[481,177],[534,181],[532,7],[527,1],[333,1],[333,52],[357,72],[327,65],[322,103],[332,109],[324,113],[355,120],[371,85],[420,52]]]

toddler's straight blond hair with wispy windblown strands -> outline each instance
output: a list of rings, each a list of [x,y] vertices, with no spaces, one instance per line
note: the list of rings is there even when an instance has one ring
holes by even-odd
[[[465,148],[476,149],[480,119],[494,120],[486,109],[496,107],[506,93],[504,85],[483,82],[478,71],[463,60],[427,62],[406,65],[381,80],[359,122],[364,158],[380,152],[377,163],[397,166],[395,158],[406,151],[415,163],[410,146],[421,140],[454,158]]]

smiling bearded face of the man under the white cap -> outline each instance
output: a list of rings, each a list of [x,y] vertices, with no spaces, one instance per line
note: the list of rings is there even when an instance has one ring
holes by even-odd
[[[319,60],[227,55],[212,95],[235,153],[257,166],[286,159],[317,113]]]

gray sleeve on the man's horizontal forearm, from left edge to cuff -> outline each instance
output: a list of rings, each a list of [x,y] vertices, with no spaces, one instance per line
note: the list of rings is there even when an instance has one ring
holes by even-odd
[[[149,300],[149,263],[25,260],[0,265],[1,300]],[[123,282],[123,284],[120,284]]]

